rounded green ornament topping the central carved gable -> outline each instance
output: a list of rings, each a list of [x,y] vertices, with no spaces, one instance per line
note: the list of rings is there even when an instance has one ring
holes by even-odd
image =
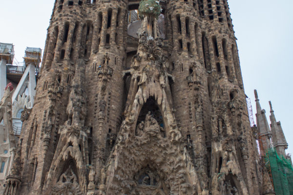
[[[146,16],[158,19],[161,14],[161,6],[159,2],[160,1],[155,0],[142,0],[138,7],[139,16],[142,19]]]

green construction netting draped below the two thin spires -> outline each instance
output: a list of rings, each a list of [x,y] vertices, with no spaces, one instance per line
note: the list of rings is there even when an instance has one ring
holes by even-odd
[[[286,159],[284,156],[278,156],[274,148],[268,149],[267,156],[268,160],[270,160],[276,195],[293,195],[293,167],[291,160]]]

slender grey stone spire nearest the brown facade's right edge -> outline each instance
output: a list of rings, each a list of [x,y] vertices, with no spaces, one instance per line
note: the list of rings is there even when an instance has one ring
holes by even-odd
[[[256,90],[254,90],[254,96],[256,102],[256,126],[260,139],[262,139],[263,149],[265,151],[266,149],[272,147],[270,139],[272,138],[272,132],[266,117],[266,111],[261,109]]]

